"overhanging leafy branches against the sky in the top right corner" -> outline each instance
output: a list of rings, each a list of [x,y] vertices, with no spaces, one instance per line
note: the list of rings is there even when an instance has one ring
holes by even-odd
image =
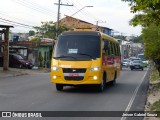
[[[160,24],[160,0],[122,0],[129,2],[132,13],[139,12],[130,21],[133,26],[149,26],[150,23]]]

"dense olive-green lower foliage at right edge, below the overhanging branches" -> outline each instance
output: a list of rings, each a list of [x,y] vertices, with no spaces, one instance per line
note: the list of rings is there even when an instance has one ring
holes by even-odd
[[[160,76],[160,25],[151,24],[142,31],[145,55],[153,60]]]

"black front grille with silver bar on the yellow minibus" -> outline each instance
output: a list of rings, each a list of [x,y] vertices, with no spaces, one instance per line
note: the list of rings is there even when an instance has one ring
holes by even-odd
[[[75,81],[83,80],[85,72],[86,72],[86,68],[63,68],[65,80],[75,80]],[[69,76],[72,73],[73,74],[78,73],[79,76]]]

